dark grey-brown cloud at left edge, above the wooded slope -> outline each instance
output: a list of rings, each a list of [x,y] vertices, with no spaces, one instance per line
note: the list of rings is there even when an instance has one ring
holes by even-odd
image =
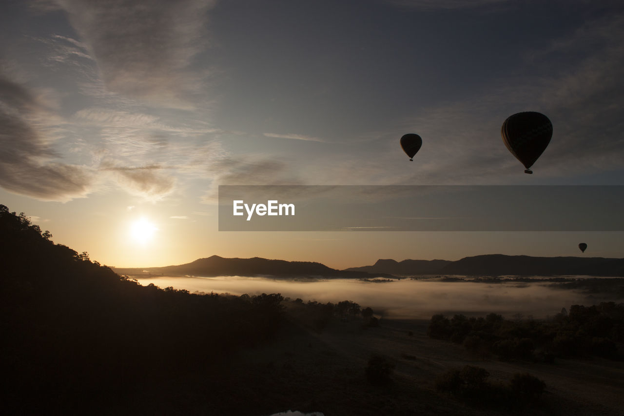
[[[0,186],[43,201],[66,202],[90,192],[84,166],[51,162],[59,122],[49,101],[0,76]]]

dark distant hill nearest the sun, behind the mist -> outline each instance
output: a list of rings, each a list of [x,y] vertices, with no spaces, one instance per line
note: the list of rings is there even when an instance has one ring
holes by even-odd
[[[260,257],[251,259],[225,258],[213,255],[187,264],[165,267],[116,268],[115,272],[127,275],[194,275],[194,276],[259,276],[275,277],[324,277],[346,279],[371,279],[373,277],[394,277],[387,273],[336,270],[316,262],[289,262],[269,260]]]

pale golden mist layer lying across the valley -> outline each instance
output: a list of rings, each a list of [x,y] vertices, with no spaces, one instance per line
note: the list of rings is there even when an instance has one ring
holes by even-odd
[[[593,305],[618,301],[613,295],[588,295],[580,290],[555,289],[548,283],[439,282],[435,280],[393,280],[364,282],[353,279],[275,280],[263,277],[149,277],[137,279],[142,285],[215,292],[233,295],[281,293],[292,299],[321,303],[351,300],[371,307],[378,315],[398,319],[429,319],[433,314],[484,315],[494,312],[505,317],[522,314],[540,319],[570,305]],[[621,299],[620,299],[621,301]]]

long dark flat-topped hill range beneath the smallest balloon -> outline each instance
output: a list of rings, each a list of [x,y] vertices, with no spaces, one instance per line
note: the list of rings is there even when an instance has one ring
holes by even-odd
[[[394,275],[590,275],[624,277],[624,259],[604,257],[531,257],[529,255],[486,254],[461,260],[379,259],[374,265],[346,270]]]

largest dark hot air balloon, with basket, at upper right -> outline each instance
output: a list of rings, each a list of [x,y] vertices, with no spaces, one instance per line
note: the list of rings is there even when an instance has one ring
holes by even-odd
[[[548,146],[552,137],[552,123],[544,114],[526,111],[513,114],[500,127],[507,149],[526,168],[524,173],[532,174],[529,169]]]

